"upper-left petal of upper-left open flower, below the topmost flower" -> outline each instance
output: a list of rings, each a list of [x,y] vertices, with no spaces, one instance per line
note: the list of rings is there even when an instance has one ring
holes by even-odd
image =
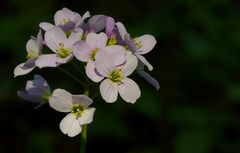
[[[65,33],[59,27],[55,27],[45,33],[45,43],[53,52],[56,52],[60,44],[64,44],[66,40]]]

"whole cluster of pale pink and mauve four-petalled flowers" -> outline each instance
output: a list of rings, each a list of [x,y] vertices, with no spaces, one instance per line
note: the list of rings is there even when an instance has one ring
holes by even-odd
[[[36,67],[59,67],[78,60],[85,64],[86,76],[100,83],[101,96],[108,103],[117,101],[119,95],[128,103],[137,101],[141,91],[129,77],[134,72],[159,89],[158,82],[144,71],[145,66],[153,70],[143,56],[156,45],[152,35],[132,38],[124,25],[110,16],[91,17],[89,12],[81,16],[67,8],[55,13],[54,24],[41,22],[39,26],[37,38],[31,37],[27,42],[27,61],[15,68],[15,77],[28,74]],[[51,53],[44,53],[44,48]],[[40,106],[49,102],[53,109],[69,112],[60,123],[61,131],[68,136],[76,136],[84,124],[92,122],[95,108],[89,107],[93,101],[87,94],[72,95],[63,89],[51,92],[39,75],[27,82],[26,92],[19,91],[18,95]]]

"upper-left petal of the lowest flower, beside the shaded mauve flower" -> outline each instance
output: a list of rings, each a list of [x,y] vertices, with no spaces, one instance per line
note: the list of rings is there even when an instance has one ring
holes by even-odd
[[[49,98],[49,105],[59,112],[70,112],[72,109],[72,94],[63,89],[56,89]]]

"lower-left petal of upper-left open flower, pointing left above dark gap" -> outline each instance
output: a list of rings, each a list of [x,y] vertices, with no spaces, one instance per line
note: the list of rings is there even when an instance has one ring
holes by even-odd
[[[39,68],[43,67],[57,67],[57,55],[56,54],[45,54],[41,55],[35,61],[35,64]]]

